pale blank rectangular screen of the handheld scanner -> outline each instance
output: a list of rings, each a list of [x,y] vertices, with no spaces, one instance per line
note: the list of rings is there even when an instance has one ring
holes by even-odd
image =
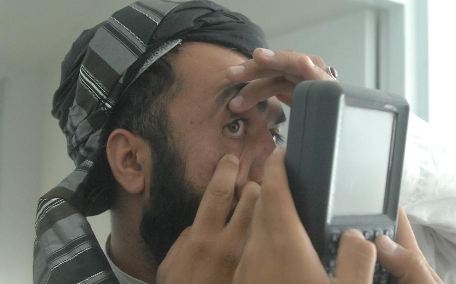
[[[328,218],[383,213],[395,115],[341,97]]]

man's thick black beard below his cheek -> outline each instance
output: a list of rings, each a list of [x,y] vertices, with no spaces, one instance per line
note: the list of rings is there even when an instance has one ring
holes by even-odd
[[[150,200],[140,232],[158,268],[180,233],[192,225],[202,194],[186,180],[185,160],[174,145],[168,143],[159,150],[155,145],[154,152]]]

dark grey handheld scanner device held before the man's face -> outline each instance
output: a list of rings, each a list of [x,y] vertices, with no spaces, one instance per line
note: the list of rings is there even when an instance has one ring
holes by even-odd
[[[299,217],[330,276],[341,234],[395,239],[409,106],[398,95],[331,81],[293,93],[286,169]],[[373,283],[387,283],[378,263]]]

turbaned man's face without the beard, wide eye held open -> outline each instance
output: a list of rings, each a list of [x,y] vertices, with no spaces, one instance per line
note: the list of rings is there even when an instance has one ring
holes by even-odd
[[[244,183],[261,183],[264,163],[276,146],[274,136],[285,117],[275,97],[238,114],[227,107],[245,84],[231,83],[226,69],[246,60],[225,47],[194,42],[182,46],[173,61],[181,89],[169,105],[169,120],[186,161],[185,178],[201,195],[218,161],[231,153],[240,160],[239,198]]]

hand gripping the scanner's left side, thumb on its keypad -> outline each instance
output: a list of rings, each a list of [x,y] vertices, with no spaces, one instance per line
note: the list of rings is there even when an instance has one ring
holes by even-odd
[[[252,235],[233,283],[371,283],[375,246],[357,230],[342,235],[336,277],[328,277],[296,212],[284,161],[285,149],[278,148],[266,162]]]

